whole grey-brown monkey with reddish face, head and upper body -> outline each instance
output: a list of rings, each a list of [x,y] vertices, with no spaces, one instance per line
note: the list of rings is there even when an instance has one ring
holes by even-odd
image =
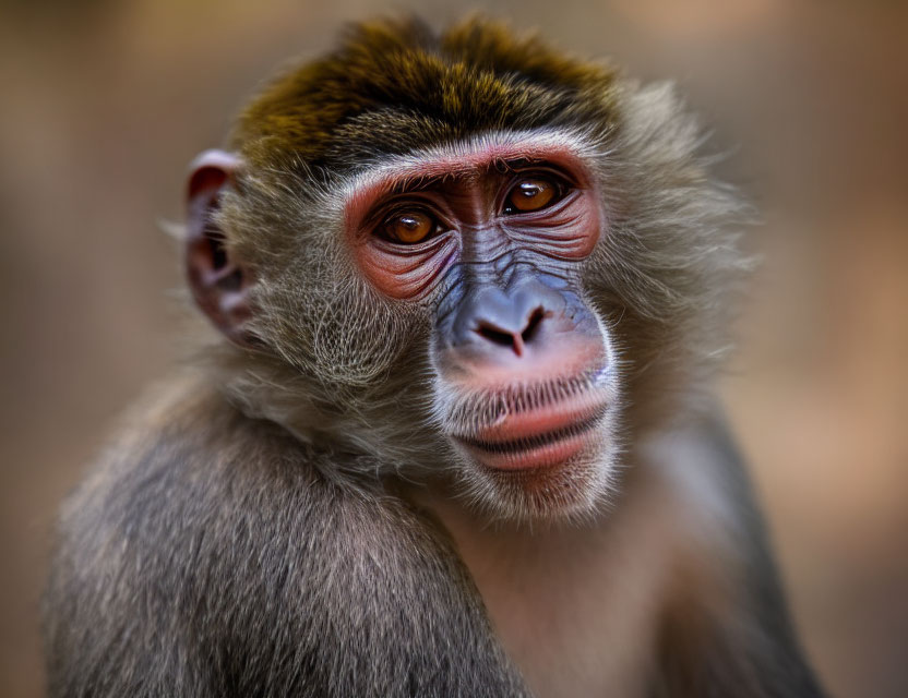
[[[712,387],[751,214],[701,133],[481,17],[266,83],[187,185],[214,330],[63,506],[49,695],[822,696]]]

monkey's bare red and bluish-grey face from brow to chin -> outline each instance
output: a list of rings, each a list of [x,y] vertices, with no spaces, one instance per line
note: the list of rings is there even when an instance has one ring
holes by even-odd
[[[607,230],[581,148],[485,136],[389,164],[348,202],[361,273],[429,316],[433,423],[469,496],[519,518],[595,506],[617,372],[582,281]]]

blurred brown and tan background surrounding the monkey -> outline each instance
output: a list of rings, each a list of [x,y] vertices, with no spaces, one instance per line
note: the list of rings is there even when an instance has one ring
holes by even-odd
[[[414,5],[433,24],[453,0]],[[160,220],[276,64],[375,0],[0,0],[0,696],[43,693],[55,510],[179,350]],[[679,82],[760,204],[721,389],[833,695],[908,695],[908,3],[514,0],[481,9]]]

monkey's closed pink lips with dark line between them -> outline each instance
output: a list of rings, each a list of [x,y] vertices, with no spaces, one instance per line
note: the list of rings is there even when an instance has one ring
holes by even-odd
[[[548,468],[563,464],[596,443],[606,402],[562,406],[509,416],[476,435],[453,437],[482,465],[495,470]]]

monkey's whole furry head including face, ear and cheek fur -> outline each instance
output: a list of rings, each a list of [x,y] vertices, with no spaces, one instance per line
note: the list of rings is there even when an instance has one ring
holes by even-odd
[[[696,142],[669,89],[501,26],[355,27],[190,177],[226,389],[495,516],[594,510],[724,344],[738,204]]]

